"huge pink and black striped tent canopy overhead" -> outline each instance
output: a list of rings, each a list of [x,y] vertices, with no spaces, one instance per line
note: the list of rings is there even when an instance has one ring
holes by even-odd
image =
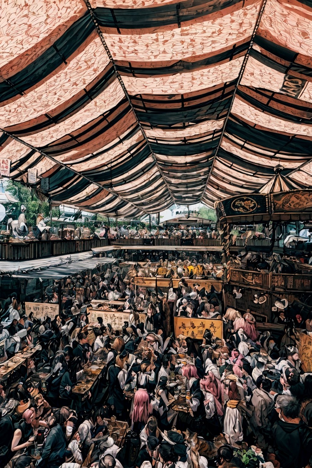
[[[3,0],[0,26],[0,159],[55,204],[312,185],[311,0]]]

